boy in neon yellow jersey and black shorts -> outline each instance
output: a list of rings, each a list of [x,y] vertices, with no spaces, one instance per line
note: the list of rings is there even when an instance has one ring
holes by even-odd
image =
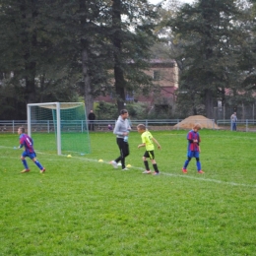
[[[158,148],[160,149],[160,144],[159,142],[152,136],[152,134],[146,129],[146,126],[144,124],[139,124],[137,126],[137,130],[139,133],[141,133],[141,137],[142,137],[142,144],[140,144],[138,146],[138,149],[140,149],[141,147],[146,147],[146,152],[143,156],[143,161],[146,167],[146,170],[143,171],[144,174],[151,174],[151,170],[149,167],[149,162],[148,162],[148,158],[152,161],[153,167],[155,169],[155,172],[153,173],[154,175],[158,175],[160,174],[159,168],[158,168],[158,164],[157,161],[155,160],[155,155],[154,155],[154,142],[158,145]]]

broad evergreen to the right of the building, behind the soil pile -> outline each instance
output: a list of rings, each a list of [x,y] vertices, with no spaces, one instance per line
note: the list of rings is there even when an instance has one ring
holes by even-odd
[[[238,60],[245,36],[239,19],[232,0],[199,0],[193,6],[184,5],[168,23],[182,44],[177,56],[183,65],[180,90],[200,96],[209,118],[220,93],[239,81]]]

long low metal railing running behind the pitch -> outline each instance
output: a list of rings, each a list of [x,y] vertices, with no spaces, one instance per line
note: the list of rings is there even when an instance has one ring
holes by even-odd
[[[179,125],[182,119],[144,119],[132,120],[131,127],[136,130],[139,123],[143,123],[150,130],[180,130],[184,129]],[[96,131],[112,131],[116,120],[95,120]],[[201,123],[204,127],[214,130],[231,130],[230,119],[197,119],[195,123]],[[217,124],[217,126],[215,125]],[[256,132],[256,121],[254,119],[245,119],[237,121],[237,131]],[[110,125],[110,129],[109,129]],[[192,123],[189,123],[187,129],[192,128]],[[0,120],[0,133],[17,133],[20,126],[28,128],[26,120]],[[54,132],[54,121],[52,120],[36,120],[32,122],[32,132],[51,133]],[[88,123],[84,120],[61,121],[61,130],[65,132],[82,132],[88,130]]]

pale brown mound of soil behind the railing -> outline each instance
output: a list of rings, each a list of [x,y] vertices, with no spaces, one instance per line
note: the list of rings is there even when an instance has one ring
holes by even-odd
[[[214,120],[206,118],[203,115],[192,115],[187,117],[186,119],[182,120],[181,122],[174,125],[174,128],[180,129],[192,129],[194,124],[200,123],[202,129],[220,129],[220,127],[215,123]]]

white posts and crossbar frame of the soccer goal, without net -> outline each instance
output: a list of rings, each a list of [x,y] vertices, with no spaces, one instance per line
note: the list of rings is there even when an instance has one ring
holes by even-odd
[[[64,106],[62,106],[63,104]],[[61,123],[60,123],[60,109],[67,109],[82,105],[82,102],[47,102],[47,103],[30,103],[27,104],[27,118],[28,118],[28,135],[32,136],[32,106],[41,106],[50,109],[56,109],[57,121],[57,154],[61,156]]]

